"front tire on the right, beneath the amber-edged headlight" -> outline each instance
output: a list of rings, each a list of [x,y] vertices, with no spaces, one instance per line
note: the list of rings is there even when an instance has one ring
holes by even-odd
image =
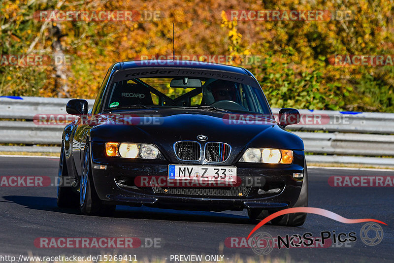
[[[306,161],[304,158],[304,180],[302,183],[301,192],[293,207],[306,207],[308,206],[308,171],[306,168]],[[269,214],[273,214],[277,211],[269,211]],[[271,220],[271,224],[275,226],[286,226],[286,227],[299,227],[305,223],[306,213],[292,213],[282,216],[278,216]]]

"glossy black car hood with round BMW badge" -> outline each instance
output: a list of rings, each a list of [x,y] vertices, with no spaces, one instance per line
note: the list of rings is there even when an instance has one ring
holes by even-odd
[[[304,149],[298,136],[284,131],[273,120],[230,123],[229,113],[214,110],[138,110],[100,115],[98,119],[90,132],[92,141],[152,143],[169,159],[175,157],[173,144],[181,140],[198,141],[202,146],[212,141],[228,143],[232,148],[230,159],[248,147]],[[207,136],[206,141],[197,139],[201,134]]]

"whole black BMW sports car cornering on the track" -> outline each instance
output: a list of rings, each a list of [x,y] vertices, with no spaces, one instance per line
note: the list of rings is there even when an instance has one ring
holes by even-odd
[[[93,107],[71,99],[80,118],[63,133],[57,202],[83,214],[116,204],[181,210],[242,210],[262,219],[307,206],[301,138],[284,130],[248,70],[191,61],[112,65]],[[272,224],[299,226],[306,214]]]

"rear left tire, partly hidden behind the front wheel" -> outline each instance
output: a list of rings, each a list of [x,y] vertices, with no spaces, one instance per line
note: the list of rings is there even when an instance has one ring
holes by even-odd
[[[58,207],[77,207],[78,195],[73,191],[71,186],[66,186],[69,183],[66,154],[64,149],[64,142],[62,142],[62,149],[59,158],[59,172],[58,172],[58,189],[56,202]]]

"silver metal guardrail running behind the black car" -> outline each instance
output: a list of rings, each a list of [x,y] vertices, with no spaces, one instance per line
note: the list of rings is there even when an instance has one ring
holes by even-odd
[[[63,126],[38,126],[32,120],[38,114],[66,114],[68,100],[0,97],[0,119],[7,119],[0,121],[0,143],[59,145]],[[91,106],[94,100],[89,99],[88,103]],[[288,126],[288,128],[303,139],[305,152],[318,154],[307,155],[307,161],[394,166],[394,158],[360,157],[394,157],[394,135],[390,135],[394,134],[393,113],[311,111],[304,109],[299,111],[303,116],[301,123]],[[274,108],[273,112],[278,114],[279,109]],[[313,118],[315,118],[314,121]],[[317,121],[316,118],[318,118]],[[319,118],[322,119],[321,124]],[[23,119],[25,121],[9,121],[9,119]],[[60,147],[0,145],[0,152],[10,151],[60,152]],[[358,157],[352,155],[358,155]]]

